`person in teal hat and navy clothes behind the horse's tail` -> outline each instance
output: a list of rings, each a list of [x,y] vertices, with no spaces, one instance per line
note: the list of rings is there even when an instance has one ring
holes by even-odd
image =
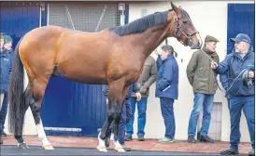
[[[1,44],[2,45],[2,44]],[[7,90],[8,90],[8,84],[9,84],[9,76],[12,69],[12,56],[13,56],[13,50],[11,48],[12,46],[12,39],[8,35],[4,35],[4,44],[3,47],[1,47],[0,52],[0,135],[1,136],[7,136],[7,134],[4,132],[4,125],[6,121],[7,116]],[[0,136],[0,137],[1,137]],[[0,138],[0,144],[3,143],[3,140]]]

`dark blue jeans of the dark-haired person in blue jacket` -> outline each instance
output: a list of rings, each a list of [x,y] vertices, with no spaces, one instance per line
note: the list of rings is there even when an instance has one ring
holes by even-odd
[[[174,99],[160,97],[161,112],[164,118],[165,134],[164,137],[174,139],[176,124],[174,116]]]

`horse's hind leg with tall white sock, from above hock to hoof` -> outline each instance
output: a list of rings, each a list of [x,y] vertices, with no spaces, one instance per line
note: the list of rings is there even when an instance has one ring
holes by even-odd
[[[43,123],[40,116],[41,103],[45,94],[46,85],[47,84],[43,82],[35,82],[33,84],[33,89],[29,91],[28,98],[29,106],[32,110],[33,117],[36,123],[38,138],[43,143],[42,148],[45,150],[54,150],[45,134]]]

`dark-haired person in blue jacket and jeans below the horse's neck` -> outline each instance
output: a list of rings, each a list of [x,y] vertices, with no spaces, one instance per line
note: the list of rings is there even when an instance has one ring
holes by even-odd
[[[163,64],[157,73],[155,96],[160,97],[161,111],[164,118],[165,135],[160,143],[174,142],[176,124],[174,116],[174,100],[178,99],[178,63],[174,58],[171,45],[162,47]]]

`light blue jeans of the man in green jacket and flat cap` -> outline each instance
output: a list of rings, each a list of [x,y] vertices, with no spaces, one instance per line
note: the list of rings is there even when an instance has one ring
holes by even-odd
[[[195,136],[197,120],[199,117],[200,110],[204,106],[203,123],[200,131],[200,136],[206,136],[208,134],[210,119],[211,119],[211,108],[213,104],[214,95],[207,95],[202,93],[194,93],[193,98],[193,110],[189,122],[188,135]]]

